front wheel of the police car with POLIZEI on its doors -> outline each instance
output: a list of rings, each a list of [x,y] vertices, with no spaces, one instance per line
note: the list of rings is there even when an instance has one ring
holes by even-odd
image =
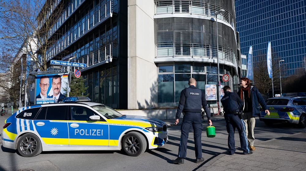
[[[130,156],[139,156],[147,149],[147,141],[141,133],[130,132],[122,139],[122,149]]]

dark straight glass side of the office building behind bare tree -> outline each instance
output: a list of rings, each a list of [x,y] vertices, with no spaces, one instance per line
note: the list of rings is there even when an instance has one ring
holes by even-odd
[[[47,49],[47,61],[62,60],[73,54],[70,62],[84,63],[87,67],[79,69],[86,79],[87,93],[93,102],[107,104],[114,108],[126,107],[126,89],[119,82],[126,82],[127,47],[126,44],[127,6],[126,1],[118,0],[51,0],[50,13],[62,8],[58,20],[48,30],[49,41],[54,42]],[[119,16],[118,13],[125,15]],[[58,14],[56,14],[58,15]],[[45,21],[39,22],[43,28]],[[120,31],[122,30],[122,31]],[[42,42],[44,43],[44,42]],[[119,58],[119,56],[122,56]],[[40,57],[40,56],[38,56]],[[113,61],[110,59],[114,59]],[[49,65],[50,67],[50,65]],[[64,67],[67,68],[67,67]],[[56,69],[49,69],[50,71]],[[121,98],[119,98],[119,92]]]

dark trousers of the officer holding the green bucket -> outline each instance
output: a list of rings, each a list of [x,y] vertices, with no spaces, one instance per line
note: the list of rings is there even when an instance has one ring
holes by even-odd
[[[181,125],[181,141],[180,147],[178,149],[178,157],[186,158],[187,152],[187,140],[190,128],[193,128],[193,138],[195,141],[195,152],[196,158],[202,158],[202,143],[201,143],[201,134],[202,134],[202,119],[201,113],[186,112],[183,117],[183,122]]]

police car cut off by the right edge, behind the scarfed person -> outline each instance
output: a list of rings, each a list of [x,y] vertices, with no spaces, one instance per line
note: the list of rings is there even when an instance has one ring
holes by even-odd
[[[300,128],[306,127],[306,96],[302,93],[284,93],[281,97],[266,100],[270,115],[261,109],[259,120],[266,125],[275,122],[298,124]]]

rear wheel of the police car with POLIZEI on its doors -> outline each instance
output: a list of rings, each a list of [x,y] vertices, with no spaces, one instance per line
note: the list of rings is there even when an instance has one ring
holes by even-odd
[[[23,157],[34,157],[42,151],[41,142],[36,135],[26,133],[19,138],[17,150]]]

